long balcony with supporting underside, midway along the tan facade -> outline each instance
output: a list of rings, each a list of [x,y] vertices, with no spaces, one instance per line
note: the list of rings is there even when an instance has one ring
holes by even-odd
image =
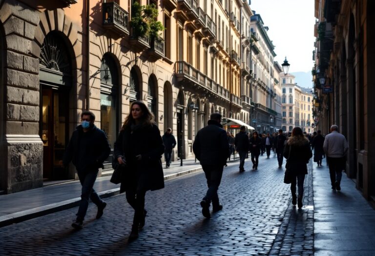
[[[184,84],[191,84],[195,90],[203,93],[211,93],[215,97],[221,97],[229,101],[229,91],[223,88],[206,75],[195,69],[186,61],[177,61],[174,66],[177,81],[183,81]]]

